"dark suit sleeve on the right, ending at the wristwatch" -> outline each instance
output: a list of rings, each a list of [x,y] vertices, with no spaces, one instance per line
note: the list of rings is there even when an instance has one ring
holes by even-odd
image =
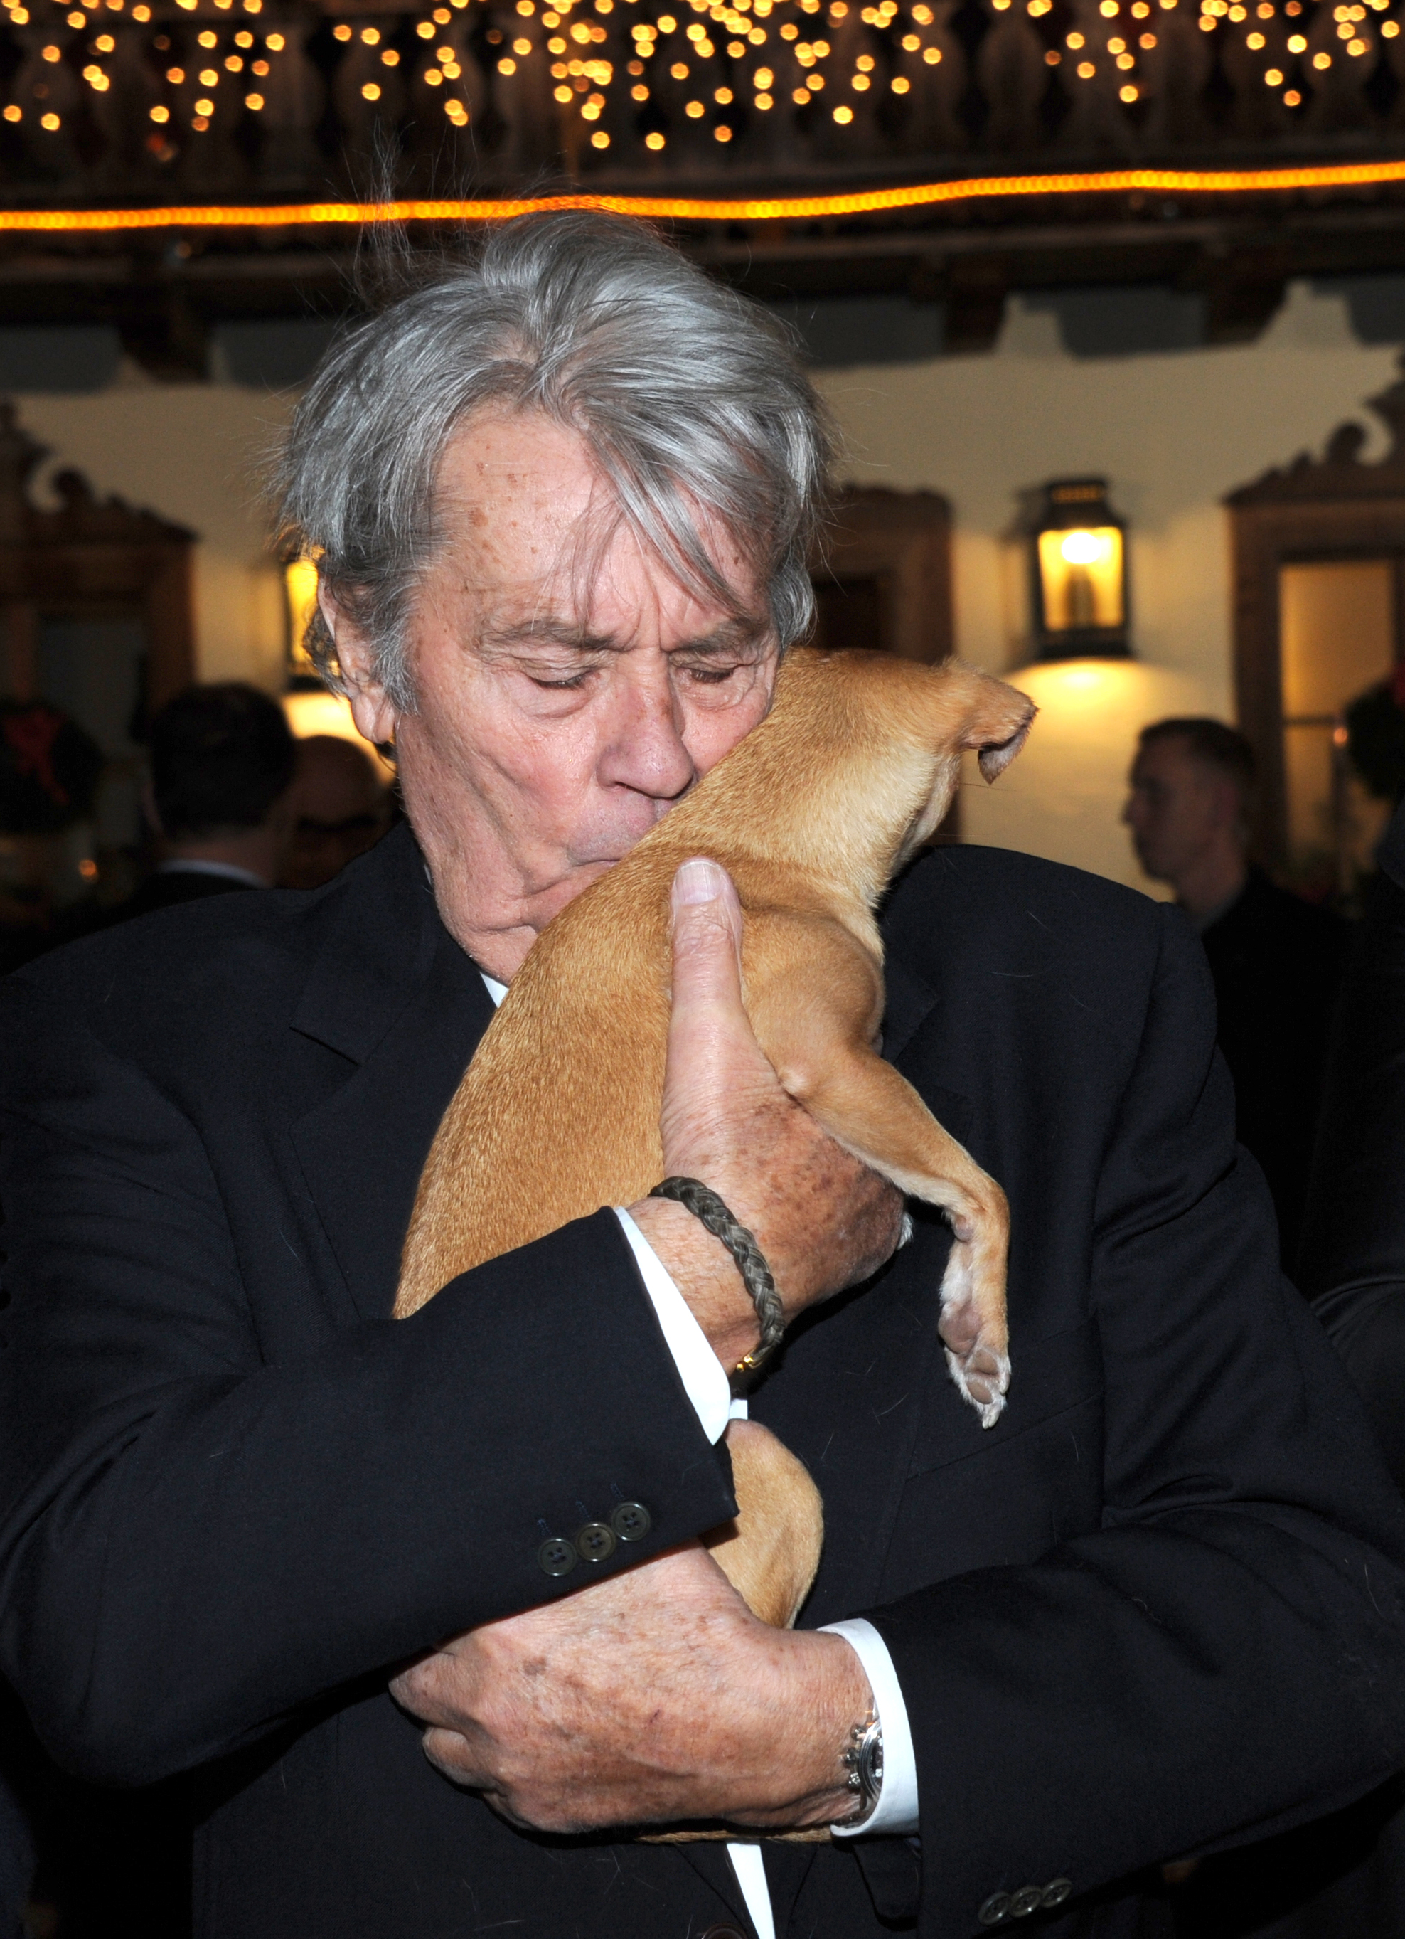
[[[1405,1509],[1277,1270],[1198,954],[1167,917],[1099,1179],[1101,1530],[868,1611],[917,1751],[924,1935],[1289,1828],[1405,1763]]]

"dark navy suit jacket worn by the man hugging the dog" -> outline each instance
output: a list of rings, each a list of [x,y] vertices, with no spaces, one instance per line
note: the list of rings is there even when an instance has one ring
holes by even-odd
[[[1180,915],[971,847],[884,931],[886,1053],[1012,1198],[1015,1375],[983,1433],[919,1216],[754,1398],[827,1503],[804,1621],[872,1615],[922,1797],[921,1906],[903,1840],[771,1848],[777,1927],[950,1939],[1066,1877],[1048,1929],[1107,1939],[1141,1867],[1405,1764],[1405,1510],[1277,1272]],[[209,1939],[744,1925],[717,1846],[510,1830],[384,1693],[570,1592],[546,1536],[731,1507],[609,1212],[388,1319],[488,1014],[407,832],[0,987],[0,1664],[72,1766],[196,1772]]]

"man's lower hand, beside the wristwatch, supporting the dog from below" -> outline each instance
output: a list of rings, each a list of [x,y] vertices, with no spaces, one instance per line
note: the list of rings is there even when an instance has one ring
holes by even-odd
[[[448,1778],[550,1832],[849,1817],[872,1702],[843,1637],[758,1623],[696,1543],[455,1637],[391,1693]]]

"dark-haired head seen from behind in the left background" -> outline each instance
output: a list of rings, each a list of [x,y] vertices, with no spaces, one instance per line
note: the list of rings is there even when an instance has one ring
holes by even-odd
[[[238,888],[271,888],[297,814],[297,741],[256,686],[188,686],[151,721],[147,820],[155,873],[116,915],[147,915]]]

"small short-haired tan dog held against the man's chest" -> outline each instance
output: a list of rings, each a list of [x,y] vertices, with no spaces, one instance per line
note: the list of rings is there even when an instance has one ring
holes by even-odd
[[[874,907],[946,814],[963,748],[992,781],[1033,712],[959,661],[793,652],[771,714],[533,944],[434,1138],[395,1315],[659,1183],[669,890],[682,861],[709,855],[736,884],[746,1010],[785,1090],[952,1222],[940,1332],[990,1427],[1010,1383],[1006,1196],[874,1049]],[[727,1445],[738,1516],[709,1545],[754,1613],[789,1625],[820,1563],[818,1491],[764,1427],[733,1421]]]

